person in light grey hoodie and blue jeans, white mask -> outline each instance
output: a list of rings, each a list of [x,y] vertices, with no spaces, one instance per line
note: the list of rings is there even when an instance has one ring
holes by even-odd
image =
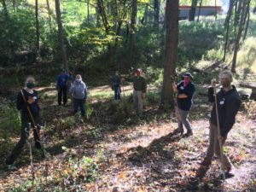
[[[79,107],[81,109],[81,116],[85,116],[84,103],[88,97],[88,91],[86,84],[82,80],[81,75],[77,75],[75,81],[70,87],[69,90],[73,97],[73,115],[78,113]]]

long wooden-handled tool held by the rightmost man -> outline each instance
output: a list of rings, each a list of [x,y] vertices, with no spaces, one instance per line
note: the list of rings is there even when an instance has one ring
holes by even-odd
[[[224,172],[224,162],[223,162],[223,144],[220,139],[220,127],[219,127],[219,119],[218,119],[218,100],[217,100],[217,91],[216,91],[216,83],[213,84],[214,90],[214,98],[215,98],[215,108],[216,108],[216,116],[217,116],[217,126],[218,126],[218,144],[219,144],[219,154],[220,154],[220,162],[221,162],[221,171],[225,181],[225,172]]]

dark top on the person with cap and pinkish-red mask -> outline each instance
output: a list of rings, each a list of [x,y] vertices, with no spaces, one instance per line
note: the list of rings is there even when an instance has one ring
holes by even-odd
[[[184,82],[181,81],[177,84],[177,93],[178,95],[180,94],[185,94],[188,96],[187,98],[177,98],[177,107],[184,110],[184,111],[189,111],[193,105],[193,96],[195,92],[195,84],[190,82],[187,86],[184,87]]]

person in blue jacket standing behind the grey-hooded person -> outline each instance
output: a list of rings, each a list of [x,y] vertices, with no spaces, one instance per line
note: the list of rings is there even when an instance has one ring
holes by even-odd
[[[71,74],[66,73],[65,70],[62,71],[61,74],[57,77],[57,84],[56,89],[58,90],[58,104],[61,105],[61,102],[63,102],[63,105],[67,104],[67,89],[68,89],[68,82],[71,80]],[[63,98],[63,100],[62,100]]]

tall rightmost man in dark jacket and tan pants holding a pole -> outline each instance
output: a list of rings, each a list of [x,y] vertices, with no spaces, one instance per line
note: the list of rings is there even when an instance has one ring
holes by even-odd
[[[208,88],[208,100],[213,102],[213,108],[210,118],[210,136],[209,147],[207,149],[207,156],[202,161],[202,164],[209,166],[212,163],[212,156],[215,154],[220,159],[219,142],[224,145],[228,133],[236,121],[236,113],[241,105],[240,97],[237,93],[235,85],[231,85],[233,80],[232,73],[228,70],[223,71],[219,75],[220,82],[222,84],[221,90],[217,93],[217,105],[218,105],[218,120],[220,133],[218,133],[217,113],[215,105],[214,90],[216,79],[212,79],[212,86]],[[232,164],[230,159],[224,154],[223,164],[227,172],[231,171]]]

